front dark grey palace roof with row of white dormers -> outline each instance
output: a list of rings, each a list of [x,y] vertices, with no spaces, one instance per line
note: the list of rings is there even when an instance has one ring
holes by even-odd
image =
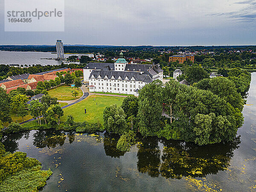
[[[148,74],[140,74],[140,72],[130,72],[130,71],[93,70],[89,76],[89,79],[92,78],[92,76],[94,76],[94,78],[96,79],[97,78],[104,79],[105,76],[107,76],[108,79],[111,79],[112,77],[114,77],[114,80],[131,80],[132,78],[134,78],[134,81],[143,81],[146,83],[151,83],[153,81],[153,79]],[[128,79],[125,79],[126,77]]]

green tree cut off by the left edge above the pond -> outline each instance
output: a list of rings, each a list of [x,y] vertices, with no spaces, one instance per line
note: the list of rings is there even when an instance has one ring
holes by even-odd
[[[6,93],[6,90],[0,87],[0,121],[2,122],[11,122],[12,118],[9,115],[10,113],[10,103],[11,99]]]

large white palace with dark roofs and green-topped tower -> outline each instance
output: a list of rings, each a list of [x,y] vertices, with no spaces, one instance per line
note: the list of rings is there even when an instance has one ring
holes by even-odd
[[[122,56],[121,52],[115,63],[89,63],[84,67],[84,82],[89,82],[90,92],[138,96],[145,84],[156,79],[163,81],[163,70],[157,65],[128,64]]]

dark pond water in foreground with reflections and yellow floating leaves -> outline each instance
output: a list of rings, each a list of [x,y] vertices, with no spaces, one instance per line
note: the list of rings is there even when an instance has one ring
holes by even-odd
[[[24,151],[53,175],[42,191],[255,191],[256,73],[232,143],[198,146],[155,137],[123,153],[107,133],[35,130],[7,135],[8,151]]]

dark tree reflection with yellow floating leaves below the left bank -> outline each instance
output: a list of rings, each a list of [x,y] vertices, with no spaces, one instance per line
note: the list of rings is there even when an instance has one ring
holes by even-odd
[[[38,148],[55,148],[57,145],[62,146],[67,135],[64,131],[55,131],[53,129],[38,130],[33,134],[33,145]],[[72,140],[72,139],[71,139]]]

